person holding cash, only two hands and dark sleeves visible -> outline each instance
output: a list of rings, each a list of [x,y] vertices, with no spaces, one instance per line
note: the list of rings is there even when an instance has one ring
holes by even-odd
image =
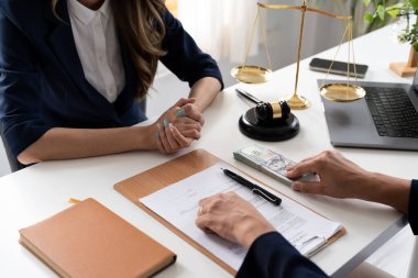
[[[418,234],[418,180],[366,171],[334,151],[302,160],[290,167],[287,176],[300,177],[306,173],[317,173],[320,181],[295,181],[294,190],[391,205],[408,214],[413,232]],[[237,193],[209,197],[199,205],[196,224],[200,229],[249,247],[237,277],[328,277]]]

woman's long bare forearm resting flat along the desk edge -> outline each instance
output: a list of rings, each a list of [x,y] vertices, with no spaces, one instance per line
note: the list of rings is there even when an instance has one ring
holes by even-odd
[[[155,148],[153,125],[97,130],[54,127],[24,149],[18,159],[28,165]]]

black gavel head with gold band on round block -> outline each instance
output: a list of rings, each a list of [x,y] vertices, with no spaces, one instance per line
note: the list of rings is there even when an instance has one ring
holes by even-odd
[[[255,116],[261,122],[286,120],[290,114],[290,107],[286,101],[260,102],[255,107]]]

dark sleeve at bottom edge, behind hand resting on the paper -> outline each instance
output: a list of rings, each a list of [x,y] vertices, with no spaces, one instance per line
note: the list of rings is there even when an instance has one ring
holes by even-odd
[[[319,267],[300,255],[279,233],[260,236],[251,245],[238,278],[323,278]]]

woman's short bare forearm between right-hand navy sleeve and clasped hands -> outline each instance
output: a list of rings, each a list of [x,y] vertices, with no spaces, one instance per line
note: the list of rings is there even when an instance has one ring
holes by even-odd
[[[190,98],[196,98],[195,104],[204,112],[215,100],[221,89],[221,84],[213,77],[205,77],[194,84]]]

